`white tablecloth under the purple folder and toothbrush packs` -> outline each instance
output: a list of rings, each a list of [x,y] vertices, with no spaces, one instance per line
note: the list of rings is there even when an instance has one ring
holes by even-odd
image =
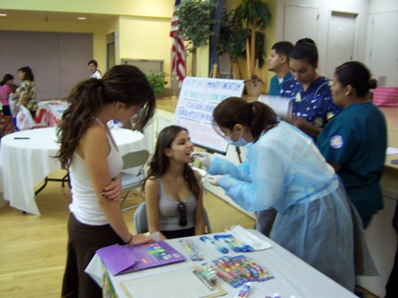
[[[349,292],[343,286],[338,285],[335,281],[323,275],[320,271],[315,270],[307,263],[301,261],[296,255],[292,255],[289,251],[280,247],[273,240],[268,239],[266,236],[259,233],[259,231],[248,230],[255,234],[260,239],[264,239],[269,242],[272,247],[266,250],[256,251],[254,253],[233,253],[229,252],[227,255],[246,255],[266,269],[273,279],[264,282],[253,282],[251,283],[251,291],[249,297],[264,298],[265,295],[272,296],[275,293],[279,293],[281,298],[291,298],[291,295],[295,295],[296,298],[354,298],[356,297],[353,293]],[[214,234],[211,234],[212,236]],[[143,278],[151,275],[160,274],[163,272],[176,271],[183,268],[200,266],[201,263],[211,262],[222,256],[222,254],[211,246],[211,244],[203,243],[199,240],[199,236],[189,237],[187,239],[193,239],[195,246],[198,247],[199,251],[202,252],[205,261],[193,262],[190,261],[189,256],[184,251],[183,247],[179,244],[179,239],[166,240],[167,243],[174,247],[187,258],[186,262],[174,263],[162,267],[153,269],[147,269],[144,271],[137,271],[120,276],[113,276],[109,273],[109,277],[115,288],[115,293],[119,298],[128,297],[120,283],[125,280],[132,278]],[[328,257],[328,255],[325,255]],[[333,262],[333,260],[330,260]],[[102,286],[102,274],[101,274],[102,262],[99,255],[95,255],[92,258],[92,262],[89,264],[86,273],[90,274],[94,280]],[[226,282],[217,279],[219,285],[222,286],[226,291],[227,295],[223,297],[235,297],[235,294],[239,292],[239,288],[229,286]],[[184,280],[181,280],[184,282]],[[176,285],[176,289],[178,285]],[[182,295],[176,294],[176,297]],[[163,297],[162,289],[159,288],[158,297]]]

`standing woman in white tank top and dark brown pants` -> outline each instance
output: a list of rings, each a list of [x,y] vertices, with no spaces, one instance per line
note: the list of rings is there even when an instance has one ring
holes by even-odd
[[[136,129],[142,129],[154,114],[155,94],[139,68],[115,66],[102,79],[76,85],[68,103],[56,155],[72,185],[62,297],[102,297],[100,286],[84,273],[95,252],[115,243],[132,246],[150,240],[132,236],[124,223],[117,201],[123,161],[106,123],[138,114]]]

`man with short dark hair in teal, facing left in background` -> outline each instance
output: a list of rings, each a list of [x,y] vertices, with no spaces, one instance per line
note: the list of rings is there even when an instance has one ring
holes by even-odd
[[[268,57],[268,70],[275,72],[269,84],[269,95],[277,96],[281,89],[281,84],[290,80],[291,68],[289,67],[289,54],[293,44],[290,42],[278,42],[272,46],[271,54]]]

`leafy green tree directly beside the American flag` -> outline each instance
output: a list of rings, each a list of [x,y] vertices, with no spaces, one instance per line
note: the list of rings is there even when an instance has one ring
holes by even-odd
[[[179,29],[187,42],[187,52],[192,53],[192,75],[196,75],[196,51],[206,45],[215,23],[213,13],[217,3],[211,0],[181,0],[179,4]]]

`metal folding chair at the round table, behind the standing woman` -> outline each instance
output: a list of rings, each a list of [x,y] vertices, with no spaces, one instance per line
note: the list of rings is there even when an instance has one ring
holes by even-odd
[[[121,173],[122,191],[124,192],[122,197],[121,206],[123,207],[124,201],[127,199],[130,191],[140,186],[142,180],[146,176],[146,166],[149,152],[147,150],[139,150],[123,155],[123,170]],[[137,171],[137,174],[132,174]],[[139,204],[123,208],[122,211],[135,208]]]

